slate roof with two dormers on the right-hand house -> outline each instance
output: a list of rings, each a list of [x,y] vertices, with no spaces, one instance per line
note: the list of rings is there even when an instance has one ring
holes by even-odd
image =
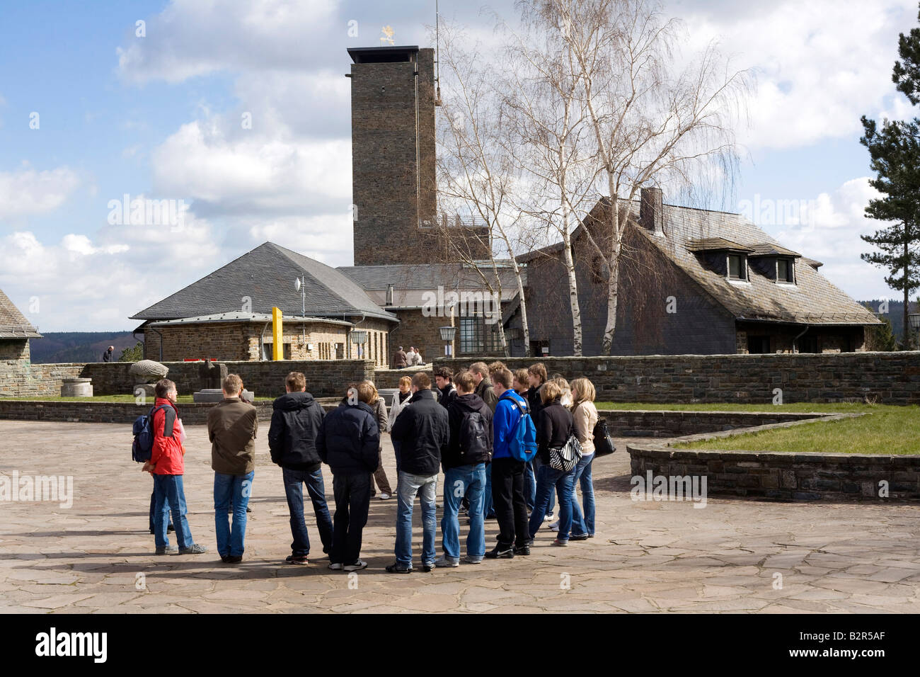
[[[606,198],[602,198],[605,202]],[[600,204],[598,206],[601,206]],[[638,201],[631,205],[630,221],[638,233],[688,274],[719,305],[737,320],[778,321],[797,324],[878,324],[868,309],[826,277],[817,267],[822,263],[805,258],[771,238],[764,230],[739,214],[665,204],[664,237],[638,226]],[[596,207],[595,207],[596,208]],[[581,236],[580,224],[572,238]],[[703,243],[703,249],[701,249]],[[710,245],[707,247],[707,245]],[[714,247],[711,245],[715,245]],[[729,281],[725,275],[709,270],[696,251],[737,249],[749,256],[782,255],[799,258],[795,264],[795,285],[776,284],[749,268],[749,282]],[[520,262],[539,256],[554,256],[561,242],[517,257]],[[773,252],[773,253],[771,253]]]

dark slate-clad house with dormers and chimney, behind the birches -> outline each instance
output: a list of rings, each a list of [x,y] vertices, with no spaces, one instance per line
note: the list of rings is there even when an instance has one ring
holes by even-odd
[[[819,273],[822,263],[743,216],[663,204],[659,189],[627,206],[614,355],[850,352],[864,349],[864,328],[879,322]],[[609,239],[608,208],[602,199],[572,233],[586,356],[602,352],[609,273],[585,229]],[[558,243],[518,257],[527,266],[531,344],[512,344],[514,355],[525,347],[531,356],[572,353],[561,251]]]

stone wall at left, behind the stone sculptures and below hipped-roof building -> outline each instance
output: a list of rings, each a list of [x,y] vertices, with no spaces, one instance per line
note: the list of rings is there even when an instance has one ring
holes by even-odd
[[[200,389],[197,362],[164,362],[168,379],[176,381],[180,394]],[[275,397],[284,392],[284,377],[302,371],[306,388],[317,397],[339,395],[351,381],[374,378],[370,360],[284,360],[279,362],[224,362],[232,374],[239,374],[247,389],[257,397]],[[8,372],[0,368],[0,396],[57,397],[63,379],[93,379],[96,395],[128,395],[133,379],[130,362],[90,362],[59,365],[25,364]],[[6,373],[6,377],[4,374]]]

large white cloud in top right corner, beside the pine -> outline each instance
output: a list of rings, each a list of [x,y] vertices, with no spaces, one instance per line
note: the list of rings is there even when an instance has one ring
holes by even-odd
[[[785,0],[738,4],[730,13],[696,3],[669,8],[683,15],[693,49],[720,36],[722,51],[737,67],[755,70],[750,128],[739,130],[746,146],[788,148],[851,137],[862,131],[861,115],[891,106],[905,110],[884,99],[901,97],[891,67],[898,33],[916,25],[916,0],[880,0],[871,7],[863,0]]]

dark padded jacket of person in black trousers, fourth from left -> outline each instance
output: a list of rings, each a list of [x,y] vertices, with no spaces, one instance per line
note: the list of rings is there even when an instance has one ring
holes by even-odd
[[[339,404],[319,426],[316,450],[333,474],[373,473],[379,449],[377,419],[365,403]]]

